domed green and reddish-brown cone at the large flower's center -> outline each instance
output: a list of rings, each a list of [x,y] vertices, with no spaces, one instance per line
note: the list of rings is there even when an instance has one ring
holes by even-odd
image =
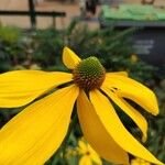
[[[97,57],[88,57],[81,61],[74,69],[74,81],[85,90],[99,88],[105,80],[105,68]]]

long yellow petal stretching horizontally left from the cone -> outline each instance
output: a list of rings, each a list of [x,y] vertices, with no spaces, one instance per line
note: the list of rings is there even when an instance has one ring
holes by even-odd
[[[40,70],[16,70],[0,75],[0,107],[24,106],[61,84],[72,80],[72,74]]]

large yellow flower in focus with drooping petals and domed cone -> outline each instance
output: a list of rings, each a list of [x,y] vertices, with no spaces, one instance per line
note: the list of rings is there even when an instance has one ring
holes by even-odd
[[[0,165],[44,164],[62,144],[75,102],[84,136],[101,157],[129,164],[130,153],[163,164],[131,135],[111,105],[113,101],[132,118],[146,139],[145,118],[124,98],[156,116],[155,95],[127,73],[106,73],[96,57],[81,61],[68,47],[63,62],[73,74],[16,70],[0,75],[1,108],[21,107],[47,94],[0,130]]]

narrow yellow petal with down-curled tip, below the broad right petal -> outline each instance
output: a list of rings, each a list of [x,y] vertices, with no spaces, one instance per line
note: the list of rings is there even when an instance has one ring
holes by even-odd
[[[143,133],[143,142],[145,142],[147,136],[147,122],[145,118],[131,105],[129,105],[124,99],[118,97],[107,87],[102,87],[101,89],[112,99],[112,101],[116,105],[118,105],[136,123],[136,125],[141,129]]]

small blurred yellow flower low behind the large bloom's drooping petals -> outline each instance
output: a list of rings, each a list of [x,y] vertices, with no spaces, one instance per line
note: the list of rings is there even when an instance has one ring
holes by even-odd
[[[99,155],[94,151],[94,148],[86,143],[84,140],[78,141],[77,152],[81,155],[79,160],[79,165],[102,165]]]

